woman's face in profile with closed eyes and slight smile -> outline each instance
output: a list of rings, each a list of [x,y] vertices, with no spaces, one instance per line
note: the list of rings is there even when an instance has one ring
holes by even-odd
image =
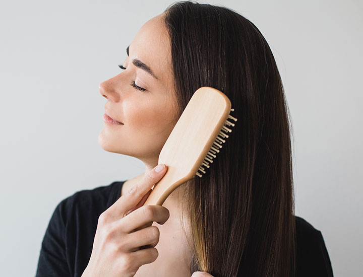
[[[153,165],[177,121],[170,39],[162,16],[149,20],[137,33],[128,47],[126,70],[99,86],[107,99],[105,113],[123,123],[105,122],[98,136],[100,146]]]

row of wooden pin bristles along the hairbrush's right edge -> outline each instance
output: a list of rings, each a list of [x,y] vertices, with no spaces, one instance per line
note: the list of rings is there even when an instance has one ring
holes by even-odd
[[[234,109],[231,109],[231,111],[234,111]],[[199,167],[199,171],[197,171],[196,175],[201,177],[203,176],[203,174],[205,174],[205,169],[203,166],[205,166],[206,168],[209,168],[209,164],[213,163],[213,158],[216,158],[216,154],[219,153],[219,149],[222,148],[222,143],[224,144],[226,141],[224,140],[224,138],[228,138],[229,136],[226,134],[227,132],[232,132],[232,129],[227,128],[226,126],[232,126],[234,127],[234,123],[229,122],[228,119],[232,119],[234,121],[237,121],[237,118],[234,118],[233,116],[231,116],[230,114],[228,115],[227,120],[224,122],[224,125],[222,126],[222,129],[219,131],[216,139],[213,142],[212,147],[209,149],[207,156],[204,158],[203,163],[201,164],[201,166]]]

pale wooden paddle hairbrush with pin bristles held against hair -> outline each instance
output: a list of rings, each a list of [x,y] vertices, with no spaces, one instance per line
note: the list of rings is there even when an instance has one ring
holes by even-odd
[[[231,102],[221,91],[201,87],[195,91],[176,122],[159,155],[165,175],[154,185],[143,205],[162,205],[169,194],[194,176],[202,177],[205,168],[228,138]],[[228,127],[227,127],[228,126]]]

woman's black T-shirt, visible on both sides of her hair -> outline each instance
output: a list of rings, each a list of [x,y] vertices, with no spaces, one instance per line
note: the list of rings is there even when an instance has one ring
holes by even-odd
[[[119,198],[124,182],[76,192],[57,205],[43,238],[36,277],[82,275],[91,256],[98,217]],[[298,276],[333,276],[321,232],[295,218]]]

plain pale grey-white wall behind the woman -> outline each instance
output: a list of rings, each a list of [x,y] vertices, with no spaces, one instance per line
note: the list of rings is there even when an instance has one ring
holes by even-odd
[[[2,1],[0,262],[35,274],[56,204],[141,174],[97,142],[98,85],[140,27],[172,1]],[[361,276],[361,1],[210,1],[251,20],[268,41],[293,124],[296,215],[320,230],[335,276]]]

